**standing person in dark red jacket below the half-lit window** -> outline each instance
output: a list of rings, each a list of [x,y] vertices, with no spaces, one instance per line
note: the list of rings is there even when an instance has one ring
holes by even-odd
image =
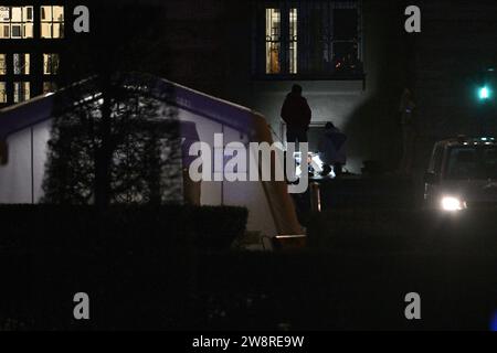
[[[307,142],[310,108],[302,96],[302,87],[294,85],[282,107],[282,119],[286,122],[286,142]]]

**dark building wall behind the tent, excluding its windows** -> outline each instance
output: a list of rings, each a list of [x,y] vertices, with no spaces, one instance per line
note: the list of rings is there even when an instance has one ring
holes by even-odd
[[[33,1],[8,4],[18,3],[34,4]],[[133,0],[105,4],[85,1],[92,13],[91,35],[73,35],[71,31],[72,9],[78,1],[46,3],[66,6],[66,39],[3,40],[3,52],[30,52],[39,58],[43,52],[61,52],[61,71],[66,81],[75,81],[85,76],[84,69],[74,67],[74,63],[86,60],[81,50],[84,45],[109,45],[104,32],[110,28],[131,26],[128,32],[139,34],[146,30],[152,32],[157,42],[144,47],[142,56],[155,64],[144,61],[136,69],[260,110],[277,138],[282,138],[279,108],[295,82],[252,76],[252,1],[144,0],[139,6]],[[117,4],[130,6],[127,11],[142,11],[138,17],[141,22],[127,23],[118,18],[118,12],[113,15],[113,11],[99,17],[102,7],[113,10]],[[422,10],[421,34],[403,31],[408,4],[417,4]],[[496,10],[497,2],[493,0],[362,1],[366,81],[296,81],[304,86],[313,108],[313,124],[332,120],[348,133],[352,171],[359,171],[362,161],[369,159],[395,169],[401,153],[396,110],[405,86],[412,88],[417,103],[417,168],[425,167],[435,140],[458,133],[478,135],[480,115],[490,116],[488,135],[497,132],[497,119],[491,119],[495,110],[482,113],[474,94],[477,74],[497,66]],[[119,31],[113,35],[125,43],[126,36]],[[41,72],[40,62],[33,63],[33,74]],[[41,78],[34,79],[33,93],[41,93]]]

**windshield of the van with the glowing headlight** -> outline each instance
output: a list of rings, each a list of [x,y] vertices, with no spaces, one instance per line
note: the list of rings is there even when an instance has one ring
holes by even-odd
[[[446,163],[446,179],[497,179],[497,147],[453,147]]]

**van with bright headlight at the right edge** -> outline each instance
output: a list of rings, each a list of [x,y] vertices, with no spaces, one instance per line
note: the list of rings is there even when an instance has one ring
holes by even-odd
[[[438,141],[424,176],[429,207],[446,212],[497,206],[497,141],[464,136]]]

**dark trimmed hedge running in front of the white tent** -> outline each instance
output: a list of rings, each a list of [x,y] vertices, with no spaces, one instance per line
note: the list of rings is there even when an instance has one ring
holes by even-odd
[[[214,206],[0,206],[0,248],[158,252],[226,248],[245,231],[247,211]]]

